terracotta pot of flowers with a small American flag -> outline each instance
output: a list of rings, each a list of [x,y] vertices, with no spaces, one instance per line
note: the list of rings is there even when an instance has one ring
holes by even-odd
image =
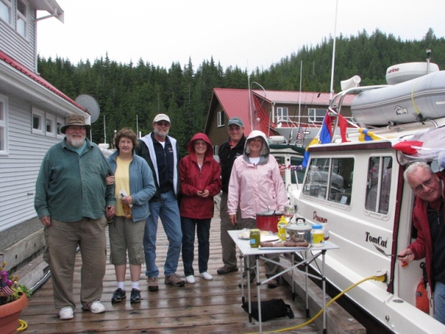
[[[0,328],[1,333],[17,333],[19,317],[28,305],[31,292],[25,285],[17,283],[18,277],[13,276],[0,267]]]

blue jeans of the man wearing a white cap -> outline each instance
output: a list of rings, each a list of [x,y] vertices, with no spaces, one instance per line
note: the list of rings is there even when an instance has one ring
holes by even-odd
[[[159,276],[156,266],[156,233],[158,231],[158,218],[161,218],[165,234],[168,239],[168,251],[165,258],[164,274],[170,276],[176,272],[181,253],[181,218],[179,217],[178,202],[173,191],[161,193],[161,200],[149,202],[150,216],[145,223],[144,254],[147,270],[145,276]]]

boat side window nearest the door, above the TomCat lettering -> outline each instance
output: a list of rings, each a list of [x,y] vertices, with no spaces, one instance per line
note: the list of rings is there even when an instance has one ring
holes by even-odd
[[[366,180],[365,209],[380,214],[388,213],[391,189],[391,157],[371,157]]]

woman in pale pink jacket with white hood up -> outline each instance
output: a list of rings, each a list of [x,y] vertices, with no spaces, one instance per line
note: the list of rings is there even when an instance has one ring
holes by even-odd
[[[236,208],[241,209],[241,226],[256,228],[255,217],[259,212],[283,211],[287,205],[284,182],[275,157],[270,155],[266,134],[254,130],[245,142],[244,154],[236,158],[229,181],[227,212],[232,225],[236,223]],[[276,256],[275,256],[276,257]],[[266,262],[266,277],[277,273],[277,264]],[[254,273],[250,280],[254,279]],[[270,280],[269,287],[276,287],[276,280]]]

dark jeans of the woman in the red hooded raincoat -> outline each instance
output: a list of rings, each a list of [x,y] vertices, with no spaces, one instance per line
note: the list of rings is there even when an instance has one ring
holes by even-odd
[[[193,275],[193,258],[195,257],[195,230],[197,234],[197,267],[200,273],[207,271],[210,256],[210,221],[208,219],[194,219],[181,217],[182,228],[182,262],[184,274]]]

